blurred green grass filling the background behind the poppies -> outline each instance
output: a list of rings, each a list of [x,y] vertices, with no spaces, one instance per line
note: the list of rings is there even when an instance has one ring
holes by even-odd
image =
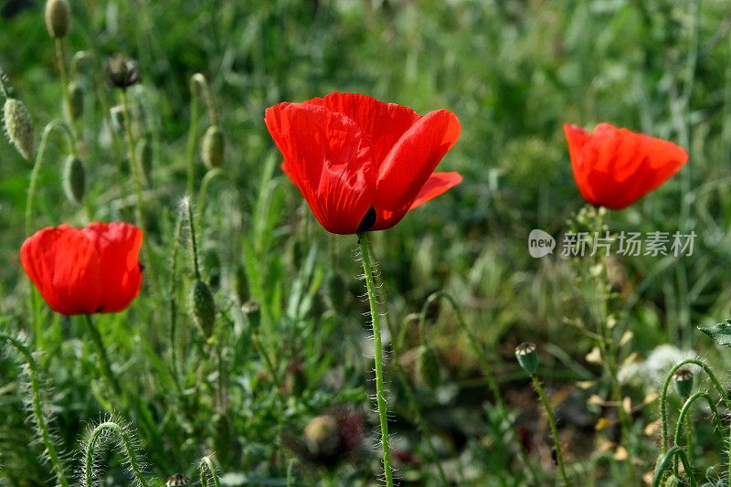
[[[356,239],[330,236],[317,224],[281,173],[281,155],[263,123],[270,105],[335,90],[362,92],[421,114],[446,108],[462,125],[460,141],[440,168],[459,171],[464,182],[371,238],[388,324],[401,345],[398,362],[386,366],[393,447],[418,459],[398,463],[405,482],[440,485],[427,441],[453,482],[515,485],[531,478],[514,452],[501,448],[511,440],[510,428],[493,408],[479,357],[456,312],[444,302],[428,310],[426,323],[440,361],[440,385],[417,383],[413,357],[421,343],[412,314],[434,291],[448,291],[459,302],[512,417],[531,432],[529,460],[544,472],[542,484],[557,479],[544,441],[547,426],[528,377],[514,361],[514,345],[539,345],[539,376],[556,403],[572,394],[581,403],[593,394],[609,397],[601,381],[586,390],[576,386],[601,377],[601,367],[586,359],[596,344],[590,334],[595,329],[588,292],[576,277],[588,266],[558,257],[532,259],[527,252],[531,229],[560,236],[583,203],[563,122],[588,128],[612,122],[672,140],[690,154],[679,175],[607,217],[618,233],[694,229],[698,235],[691,257],[617,259],[624,279],[611,302],[619,319],[614,333],[618,341],[625,331],[633,333],[619,348],[620,363],[659,344],[675,344],[696,350],[726,381],[731,355],[695,329],[731,315],[731,42],[725,0],[72,4],[67,55],[93,52],[77,78],[86,94],[79,136],[88,190],[83,206],[65,198],[60,174],[67,153],[53,135],[37,182],[32,228],[134,218],[124,145],[115,150],[95,89],[103,60],[117,52],[141,64],[143,83],[130,96],[137,120],[143,120],[135,130],[153,141],[154,169],[145,185],[150,248],[143,249],[143,291],[127,312],[95,316],[124,389],[123,397],[109,402],[82,318],[58,316],[39,297],[36,319],[27,311],[32,293],[18,249],[27,237],[32,167],[0,138],[0,331],[26,333],[37,353],[69,473],[79,468],[84,429],[111,412],[107,404],[131,422],[151,477],[182,471],[197,480],[201,457],[215,454],[221,473],[254,479],[249,484],[284,485],[288,476],[295,485],[325,482],[323,469],[302,460],[302,431],[310,419],[344,408],[363,418],[364,442],[334,471],[333,482],[376,482],[378,421],[366,397],[375,387],[365,356],[367,304],[358,299],[365,290],[355,279],[360,268],[352,256]],[[62,117],[42,5],[0,17],[0,32],[0,67],[39,137],[48,122]],[[197,208],[199,260],[217,306],[209,343],[189,312],[193,270],[185,229],[183,243],[176,243],[186,185],[188,84],[196,72],[210,82],[227,136],[224,176],[212,181],[205,207]],[[119,102],[118,92],[107,87],[105,94]],[[196,187],[206,174],[198,155],[205,108],[199,115]],[[259,327],[240,312],[249,300],[260,303]],[[26,420],[26,378],[16,358],[0,357],[0,478],[10,485],[47,485],[51,470]],[[639,406],[651,389],[657,384],[623,392]],[[426,428],[417,424],[414,404]],[[586,410],[592,422],[607,413],[597,406]],[[654,401],[633,417],[641,474],[652,471],[659,453],[657,436],[643,434],[658,410]],[[721,439],[699,423],[694,463],[703,477],[705,468],[726,457]],[[599,448],[611,431],[575,425],[561,430],[567,467],[576,478],[587,479],[586,485],[624,482],[614,451]],[[119,451],[103,453],[101,463],[110,484],[127,482]]]

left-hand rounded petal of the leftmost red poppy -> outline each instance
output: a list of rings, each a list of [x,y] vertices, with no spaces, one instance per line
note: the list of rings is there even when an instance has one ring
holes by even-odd
[[[23,269],[56,312],[95,312],[101,303],[99,254],[79,230],[45,228],[20,249]]]

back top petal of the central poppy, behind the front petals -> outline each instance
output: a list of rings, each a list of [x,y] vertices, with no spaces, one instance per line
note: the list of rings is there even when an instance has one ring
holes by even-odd
[[[330,93],[323,98],[305,101],[321,105],[329,111],[343,113],[357,125],[371,141],[373,160],[380,164],[404,133],[421,116],[397,103],[378,101],[359,93]]]

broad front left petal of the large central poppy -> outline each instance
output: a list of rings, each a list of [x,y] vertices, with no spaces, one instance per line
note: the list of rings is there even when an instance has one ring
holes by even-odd
[[[264,122],[284,156],[282,169],[320,224],[355,233],[375,193],[376,164],[364,132],[343,114],[305,103],[270,107]]]

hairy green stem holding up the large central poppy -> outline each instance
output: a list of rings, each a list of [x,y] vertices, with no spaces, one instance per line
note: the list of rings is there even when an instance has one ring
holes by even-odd
[[[383,447],[383,471],[387,487],[393,487],[393,472],[391,471],[391,449],[388,439],[387,404],[383,385],[383,343],[381,340],[381,316],[378,313],[376,302],[376,284],[373,281],[373,267],[371,266],[370,246],[368,234],[358,234],[361,262],[365,277],[365,288],[368,292],[368,304],[371,309],[371,323],[373,324],[374,361],[376,363],[376,404],[378,417],[381,421],[381,446]]]

